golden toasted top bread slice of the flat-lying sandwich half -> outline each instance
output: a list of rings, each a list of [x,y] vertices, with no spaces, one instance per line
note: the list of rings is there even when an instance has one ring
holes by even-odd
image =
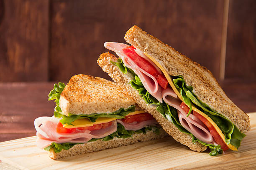
[[[62,113],[68,115],[114,112],[136,105],[127,91],[115,82],[90,75],[71,77],[59,100]]]

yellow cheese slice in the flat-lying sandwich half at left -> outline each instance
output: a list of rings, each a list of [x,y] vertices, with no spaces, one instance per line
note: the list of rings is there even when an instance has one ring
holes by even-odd
[[[137,114],[144,113],[144,112],[145,112],[144,110],[137,110],[135,112],[129,113],[127,116],[137,115]],[[63,127],[68,128],[68,129],[70,129],[70,128],[82,128],[82,127],[93,126],[93,125],[97,125],[97,124],[101,124],[101,123],[111,122],[113,120],[116,120],[116,118],[99,117],[99,118],[96,119],[95,122],[90,122],[89,119],[84,118],[84,119],[75,120],[74,122],[72,122],[72,125],[64,124]]]

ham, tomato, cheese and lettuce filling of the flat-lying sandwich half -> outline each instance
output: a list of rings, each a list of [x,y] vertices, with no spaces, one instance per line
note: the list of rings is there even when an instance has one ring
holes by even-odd
[[[113,138],[131,138],[133,134],[153,130],[159,135],[159,124],[154,117],[135,106],[120,108],[112,113],[93,113],[90,115],[62,115],[59,107],[60,94],[65,85],[59,82],[49,93],[49,100],[56,102],[53,117],[38,117],[35,120],[38,148],[55,153],[68,150],[74,145],[108,141]]]

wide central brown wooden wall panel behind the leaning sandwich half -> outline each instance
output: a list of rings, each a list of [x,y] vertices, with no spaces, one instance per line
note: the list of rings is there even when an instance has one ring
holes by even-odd
[[[218,78],[223,1],[51,1],[50,80],[75,74],[110,77],[95,62],[106,41],[124,42],[138,25]]]

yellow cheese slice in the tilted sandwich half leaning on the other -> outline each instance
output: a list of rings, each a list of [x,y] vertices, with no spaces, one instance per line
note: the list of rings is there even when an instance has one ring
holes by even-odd
[[[164,69],[164,67],[162,67],[159,62],[157,62],[153,57],[151,57],[150,55],[148,55],[146,52],[144,52],[144,54],[151,60],[153,61],[157,67],[160,68],[160,70],[164,73],[164,76],[166,77],[167,81],[169,82],[169,84],[171,85],[172,89],[174,90],[174,92],[177,94],[177,96],[179,97],[180,100],[183,101],[182,95],[179,93],[179,91],[177,90],[176,86],[174,85],[172,78],[170,77],[170,75],[166,72],[166,70]],[[184,102],[185,103],[185,102]],[[228,148],[230,148],[231,150],[237,150],[237,148],[231,144],[227,144],[225,141],[225,136],[222,133],[222,131],[220,130],[220,128],[216,125],[215,122],[213,122],[213,120],[208,117],[207,115],[205,115],[205,113],[201,112],[200,110],[198,110],[194,105],[192,105],[192,110],[195,110],[196,112],[198,112],[200,115],[202,115],[203,117],[205,117],[210,124],[215,128],[215,130],[217,131],[217,133],[220,135],[220,137],[222,138],[222,140],[225,142],[225,144],[228,146]]]

